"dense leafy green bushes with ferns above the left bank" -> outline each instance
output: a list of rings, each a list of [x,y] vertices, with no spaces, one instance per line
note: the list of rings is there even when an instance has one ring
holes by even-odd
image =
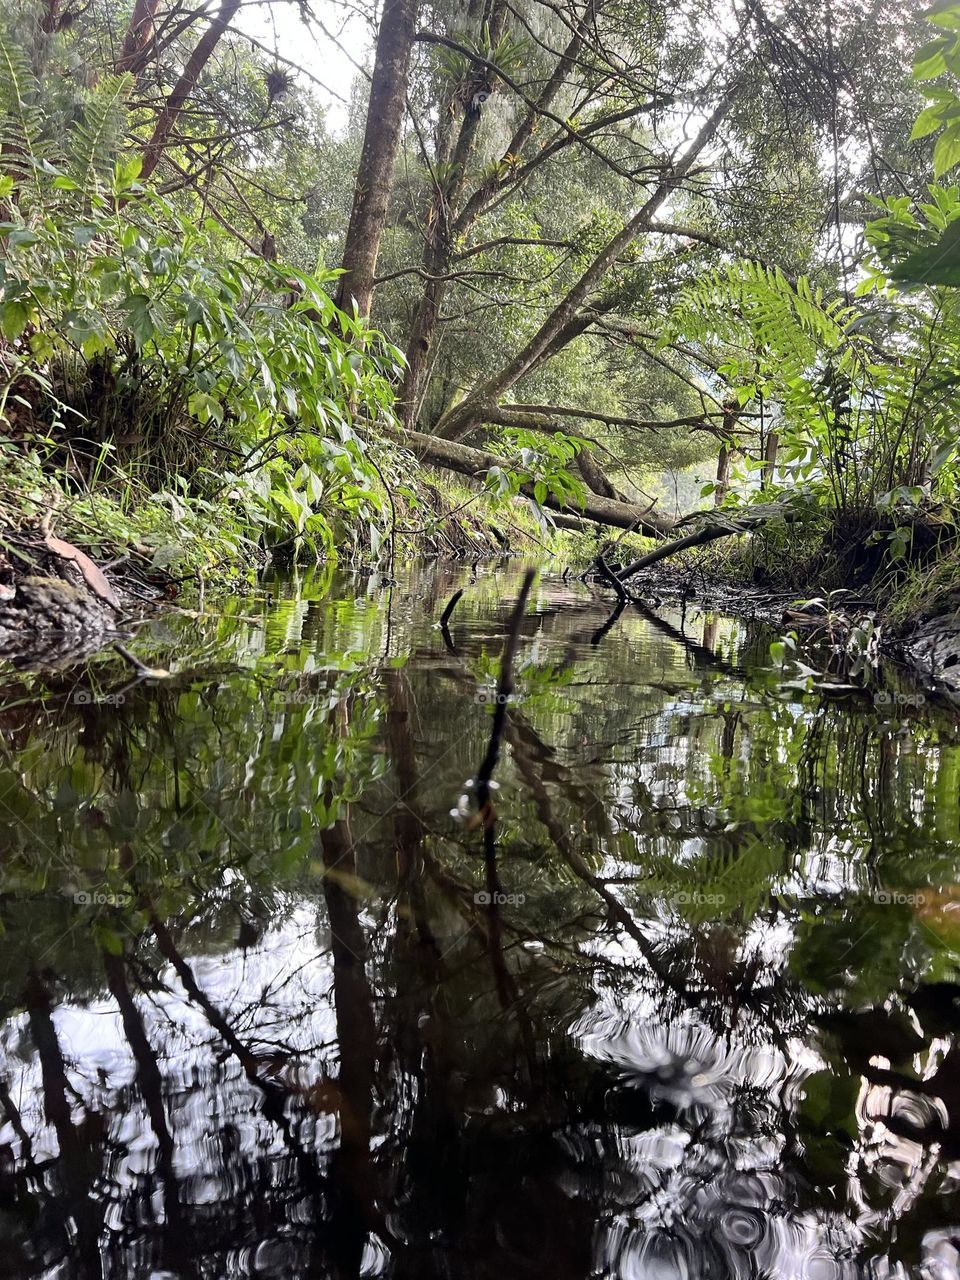
[[[138,183],[118,154],[129,77],[99,86],[58,151],[24,151],[36,81],[9,40],[0,160],[0,413],[83,481],[179,479],[228,497],[268,545],[333,556],[383,540],[367,442],[392,421],[399,356],[308,275],[238,256],[219,225]],[[26,123],[24,123],[26,122]],[[27,180],[29,179],[29,180]]]

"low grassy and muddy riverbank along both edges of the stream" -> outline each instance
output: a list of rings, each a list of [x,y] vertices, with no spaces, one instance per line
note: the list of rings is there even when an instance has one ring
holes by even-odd
[[[131,484],[70,492],[23,454],[8,453],[0,498],[0,657],[18,663],[74,662],[123,637],[170,602],[191,605],[221,593],[256,588],[270,563],[296,559],[296,536],[270,544],[237,497],[146,493]],[[12,483],[15,480],[15,484]],[[422,558],[475,562],[520,556],[557,572],[595,579],[600,594],[625,590],[645,607],[680,603],[754,618],[780,635],[785,657],[819,649],[833,669],[861,668],[883,658],[928,691],[960,698],[960,614],[952,595],[952,559],[902,571],[859,589],[822,590],[788,581],[758,585],[758,535],[731,539],[727,549],[690,549],[664,558],[612,588],[613,575],[636,557],[664,548],[635,534],[604,536],[600,529],[541,527],[524,498],[494,502],[475,483],[421,468],[383,495],[390,511],[385,534],[369,526],[343,531],[334,557],[346,568],[369,567],[389,584],[397,566]],[[792,538],[796,534],[791,532]],[[375,543],[378,545],[375,545]],[[769,556],[769,547],[763,547]],[[316,558],[316,548],[312,548]],[[783,549],[777,550],[785,561]],[[310,563],[310,556],[306,557]],[[826,575],[828,581],[836,573]]]

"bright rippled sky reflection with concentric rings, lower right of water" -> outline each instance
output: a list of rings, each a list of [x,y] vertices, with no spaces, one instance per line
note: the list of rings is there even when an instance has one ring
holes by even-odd
[[[602,992],[575,1028],[589,1055],[614,1064],[625,1084],[649,1091],[682,1123],[621,1132],[618,1151],[635,1176],[620,1212],[598,1226],[599,1275],[863,1275],[855,1256],[872,1216],[803,1208],[785,1167],[782,1114],[795,1110],[803,1082],[823,1062],[796,1041],[782,1050],[756,1043],[756,1032],[746,1020],[719,1039],[695,1012],[666,1025],[653,1001],[620,991]]]

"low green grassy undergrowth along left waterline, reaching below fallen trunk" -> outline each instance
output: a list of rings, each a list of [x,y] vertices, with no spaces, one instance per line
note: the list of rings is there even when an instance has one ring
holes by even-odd
[[[19,547],[18,535],[50,517],[52,530],[100,562],[129,557],[147,573],[204,579],[237,589],[269,561],[311,563],[326,558],[344,567],[387,570],[394,562],[434,554],[452,558],[535,554],[550,549],[525,502],[497,502],[467,483],[417,470],[399,448],[383,452],[380,468],[404,481],[378,494],[388,512],[374,541],[370,526],[330,511],[333,554],[291,534],[270,539],[270,513],[257,494],[224,485],[209,495],[186,485],[150,489],[111,470],[78,490],[69,474],[51,470],[37,449],[0,444],[0,563]],[[8,556],[4,557],[4,550]],[[14,562],[24,568],[22,559]]]

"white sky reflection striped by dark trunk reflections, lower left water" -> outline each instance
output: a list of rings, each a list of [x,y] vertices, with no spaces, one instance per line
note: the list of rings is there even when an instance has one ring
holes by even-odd
[[[264,1079],[270,1078],[271,1056],[297,1051],[302,1052],[294,1059],[298,1065],[280,1078],[293,1093],[308,1089],[324,1074],[335,1075],[332,964],[329,954],[317,948],[315,905],[302,904],[246,952],[232,948],[186,960],[200,988],[262,1062]],[[160,977],[169,992],[134,998],[166,1087],[164,1101],[177,1138],[175,1174],[191,1188],[189,1201],[201,1204],[223,1194],[223,1153],[212,1135],[225,1125],[237,1128],[251,1156],[280,1158],[285,1148],[276,1126],[261,1114],[261,1091],[236,1059],[224,1056],[223,1042],[204,1011],[183,996],[170,968],[161,969]],[[142,1101],[131,1092],[137,1065],[119,1011],[109,997],[83,1006],[64,1001],[52,1018],[68,1079],[84,1110],[109,1111],[109,1137],[129,1148],[129,1156],[115,1166],[120,1190],[129,1190],[152,1162],[147,1152],[155,1152],[156,1137]],[[0,1057],[35,1158],[54,1157],[56,1135],[44,1120],[40,1062],[26,1014],[0,1027]],[[81,1119],[76,1108],[74,1121]],[[329,1148],[334,1139],[334,1116],[320,1116],[317,1149]],[[0,1129],[0,1143],[19,1146],[10,1124]]]

